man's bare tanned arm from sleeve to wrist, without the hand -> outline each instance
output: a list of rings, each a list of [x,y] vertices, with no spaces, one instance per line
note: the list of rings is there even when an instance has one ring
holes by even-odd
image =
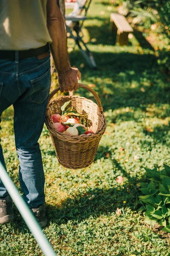
[[[59,74],[69,70],[70,65],[67,53],[67,41],[64,19],[57,6],[57,0],[47,2],[47,27],[52,39],[50,44],[56,70]]]

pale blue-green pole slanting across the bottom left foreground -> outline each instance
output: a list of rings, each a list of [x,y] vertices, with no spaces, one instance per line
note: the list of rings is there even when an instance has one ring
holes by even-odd
[[[29,230],[33,234],[34,238],[36,239],[37,243],[40,245],[40,248],[45,256],[57,256],[54,253],[53,248],[49,244],[47,238],[45,237],[44,233],[40,225],[38,224],[36,218],[26,205],[25,201],[21,197],[20,193],[18,192],[16,186],[12,182],[11,178],[9,177],[8,173],[4,169],[3,165],[0,163],[0,179],[2,180],[4,186],[8,190],[9,195],[11,196],[14,204],[16,205],[17,209],[19,210],[21,216],[23,217],[24,221],[26,222]]]

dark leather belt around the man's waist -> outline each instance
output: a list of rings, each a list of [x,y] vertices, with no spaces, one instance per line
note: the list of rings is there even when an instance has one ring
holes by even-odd
[[[15,60],[15,52],[13,50],[0,50],[0,59]],[[29,49],[29,50],[19,50],[19,59],[25,59],[30,57],[36,57],[42,55],[46,52],[49,52],[49,44],[46,44],[42,47]]]

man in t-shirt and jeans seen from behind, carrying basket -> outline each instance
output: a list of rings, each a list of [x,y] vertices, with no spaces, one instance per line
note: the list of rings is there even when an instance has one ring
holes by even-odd
[[[20,186],[42,227],[47,225],[45,178],[37,141],[51,85],[48,43],[61,92],[77,90],[81,73],[68,62],[65,25],[57,0],[0,0],[0,116],[13,105]],[[0,161],[6,168],[1,145]],[[0,180],[0,223],[13,219],[12,200]]]

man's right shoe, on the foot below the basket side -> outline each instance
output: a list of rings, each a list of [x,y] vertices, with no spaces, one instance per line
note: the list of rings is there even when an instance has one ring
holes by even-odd
[[[35,218],[39,222],[41,227],[47,226],[47,216],[45,214],[45,204],[41,204],[37,208],[31,208],[31,211],[33,212]]]

